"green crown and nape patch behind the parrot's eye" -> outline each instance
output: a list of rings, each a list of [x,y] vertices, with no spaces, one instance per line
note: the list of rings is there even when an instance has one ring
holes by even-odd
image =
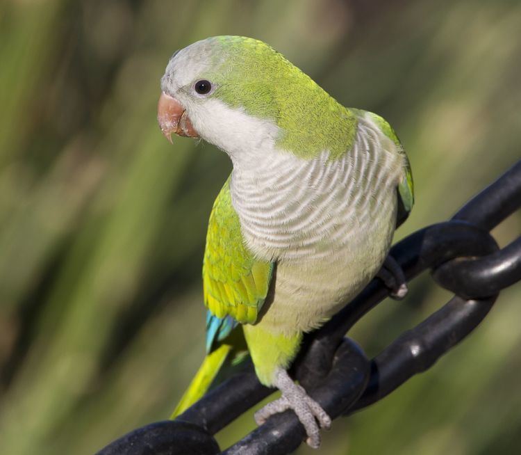
[[[277,145],[302,158],[329,150],[331,159],[351,149],[356,115],[265,42],[240,36],[209,38],[215,54],[213,96],[249,115],[274,120]]]

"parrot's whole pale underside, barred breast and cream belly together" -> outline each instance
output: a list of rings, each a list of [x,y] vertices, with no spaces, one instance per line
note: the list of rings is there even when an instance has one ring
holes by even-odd
[[[247,246],[277,263],[274,296],[258,324],[308,331],[379,270],[395,229],[404,159],[369,120],[340,159],[328,152],[311,160],[266,156],[253,173],[234,166],[231,179]]]

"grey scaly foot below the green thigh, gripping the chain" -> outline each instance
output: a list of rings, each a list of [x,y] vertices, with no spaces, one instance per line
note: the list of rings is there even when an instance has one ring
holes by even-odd
[[[277,370],[275,385],[281,390],[282,397],[268,403],[255,413],[257,424],[262,425],[270,416],[292,409],[306,429],[308,435],[306,442],[313,449],[318,449],[320,447],[320,428],[329,429],[331,417],[320,404],[309,397],[304,388],[293,382],[286,370]]]

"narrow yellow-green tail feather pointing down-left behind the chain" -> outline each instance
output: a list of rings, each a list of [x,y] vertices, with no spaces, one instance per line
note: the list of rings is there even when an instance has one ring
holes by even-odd
[[[206,393],[230,351],[231,346],[229,344],[222,344],[219,348],[210,352],[208,356],[206,356],[201,367],[199,367],[199,371],[195,374],[188,389],[183,394],[183,397],[181,397],[181,400],[170,416],[171,420],[175,419],[179,414],[190,408],[192,404]]]

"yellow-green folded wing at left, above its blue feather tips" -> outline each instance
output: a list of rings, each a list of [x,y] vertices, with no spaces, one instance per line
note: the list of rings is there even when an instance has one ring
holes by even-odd
[[[274,264],[246,248],[231,204],[229,179],[213,205],[203,262],[204,304],[218,319],[253,324],[266,299]],[[212,338],[215,335],[211,335]],[[213,340],[210,340],[210,344]]]

